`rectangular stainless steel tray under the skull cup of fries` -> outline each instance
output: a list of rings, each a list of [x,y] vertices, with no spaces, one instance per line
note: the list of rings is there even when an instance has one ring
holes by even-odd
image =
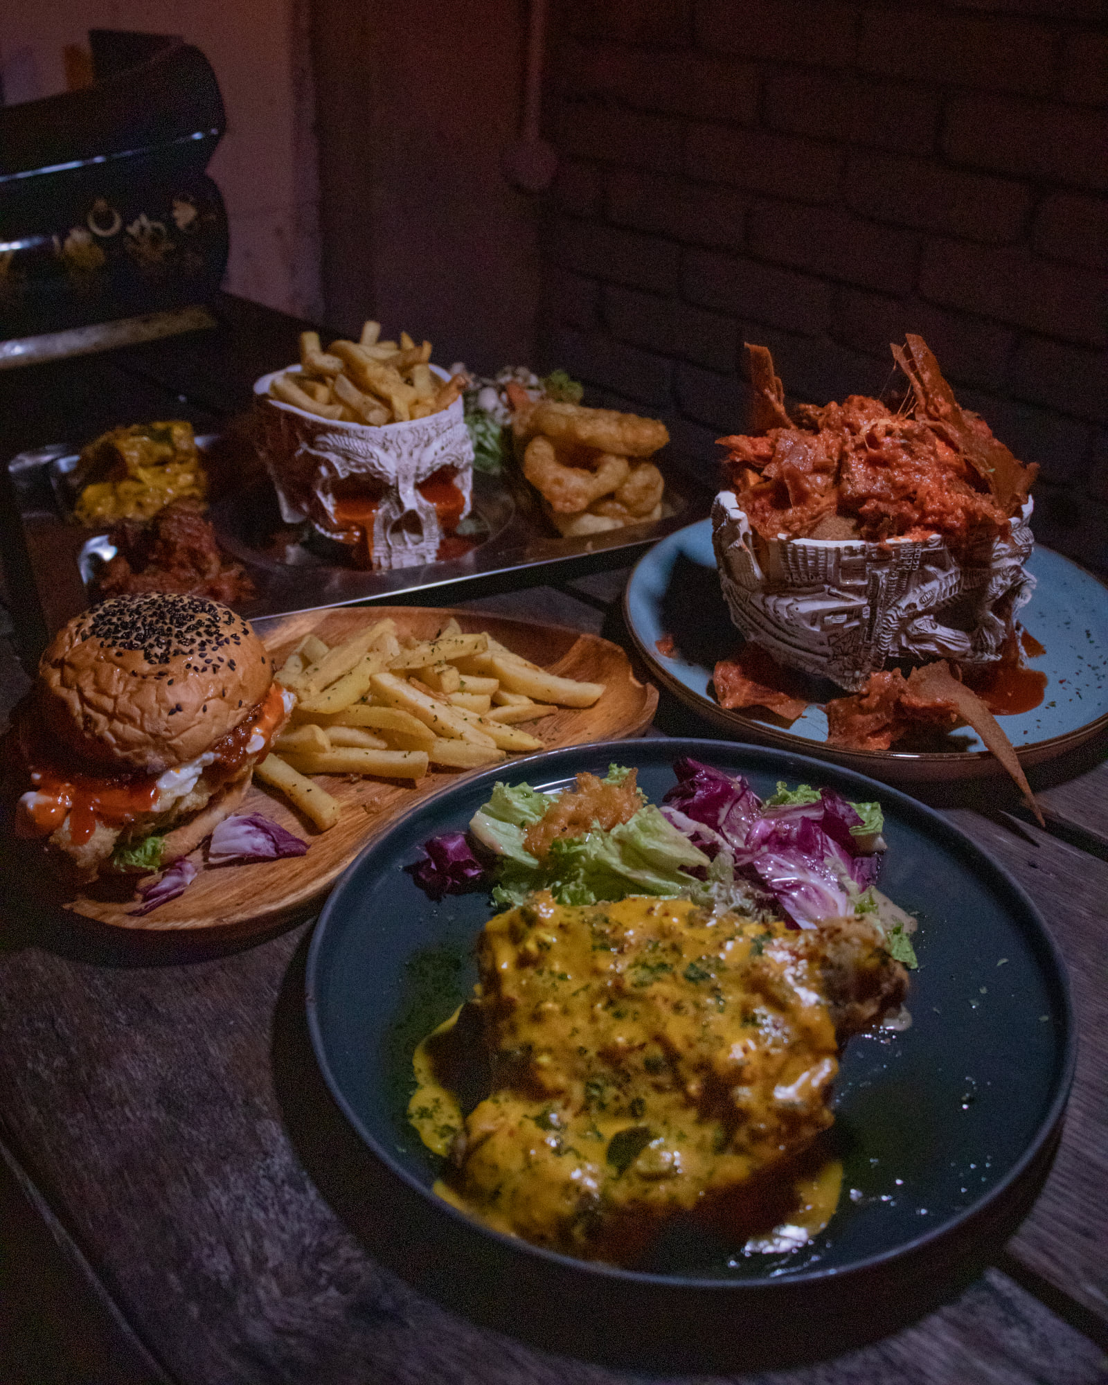
[[[197,440],[212,449],[219,438]],[[96,564],[114,553],[105,530],[72,522],[66,475],[76,457],[72,446],[57,445],[19,453],[8,463],[15,512],[4,526],[4,571],[17,633],[24,651],[32,655],[39,652],[36,644],[42,647],[89,605],[87,583]],[[555,576],[565,580],[623,566],[658,539],[706,515],[711,492],[684,478],[674,479],[672,464],[661,465],[666,475],[666,512],[661,519],[583,539],[551,533],[537,497],[524,482],[475,472],[474,511],[485,535],[482,542],[461,558],[393,572],[338,565],[328,561],[324,543],[302,543],[295,533],[274,540],[266,526],[277,515],[276,500],[269,482],[258,475],[227,490],[209,512],[222,547],[244,564],[258,589],[256,600],[240,607],[251,619],[313,607],[395,602],[432,590],[438,604],[446,590],[464,589],[454,591],[456,598],[463,598],[510,584]]]

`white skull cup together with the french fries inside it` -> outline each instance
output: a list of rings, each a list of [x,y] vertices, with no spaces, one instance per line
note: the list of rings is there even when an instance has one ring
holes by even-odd
[[[406,364],[416,352],[422,359]],[[350,547],[357,566],[435,562],[472,507],[474,450],[458,388],[429,364],[428,342],[389,359],[355,342],[324,353],[314,338],[302,339],[301,356],[253,386],[258,449],[281,518],[310,521]],[[391,360],[406,364],[407,378]]]

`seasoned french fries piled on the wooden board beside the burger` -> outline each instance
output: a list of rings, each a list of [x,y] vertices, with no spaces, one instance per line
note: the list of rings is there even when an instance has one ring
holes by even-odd
[[[421,780],[432,765],[496,765],[508,752],[543,749],[518,723],[591,706],[604,694],[602,683],[557,677],[490,634],[464,634],[457,620],[434,640],[402,640],[395,620],[332,648],[309,634],[276,677],[296,704],[255,776],[324,830],[341,803],[310,774]]]

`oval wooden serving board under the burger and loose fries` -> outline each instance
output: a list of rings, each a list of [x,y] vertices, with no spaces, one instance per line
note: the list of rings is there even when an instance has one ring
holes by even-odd
[[[399,633],[431,638],[450,616],[467,633],[485,630],[525,659],[564,677],[604,683],[607,691],[590,708],[560,708],[553,716],[528,722],[525,730],[540,738],[546,749],[584,745],[590,741],[619,740],[645,730],[658,706],[658,690],[640,683],[619,645],[594,634],[580,634],[553,625],[529,625],[471,611],[424,607],[341,607],[303,611],[296,615],[259,620],[255,625],[277,663],[305,634],[317,634],[338,644],[364,625],[391,616]],[[512,759],[503,762],[506,774]],[[255,783],[244,799],[242,813],[265,813],[296,832],[307,843],[306,856],[251,866],[204,868],[204,849],[193,860],[202,867],[186,892],[144,917],[136,917],[132,879],[97,881],[65,907],[115,928],[168,932],[173,929],[234,929],[258,932],[302,917],[317,906],[338,875],[363,846],[393,817],[421,798],[457,781],[472,770],[432,770],[418,784],[393,780],[319,776],[319,783],[342,805],[335,827],[321,832],[276,789]]]

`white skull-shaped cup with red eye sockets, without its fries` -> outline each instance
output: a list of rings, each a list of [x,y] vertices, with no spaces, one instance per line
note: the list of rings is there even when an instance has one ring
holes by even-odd
[[[374,571],[434,562],[472,503],[474,449],[461,399],[410,422],[342,422],[270,395],[277,375],[299,370],[273,371],[253,386],[258,447],[281,518],[310,519]]]

